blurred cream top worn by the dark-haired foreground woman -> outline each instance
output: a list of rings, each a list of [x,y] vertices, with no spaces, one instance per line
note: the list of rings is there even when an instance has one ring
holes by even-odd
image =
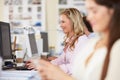
[[[76,57],[72,70],[72,76],[75,80],[100,80],[107,48],[97,49],[87,66],[85,65],[86,59],[93,52],[98,40],[99,38],[91,40]],[[108,74],[105,80],[120,80],[120,39],[112,47]]]

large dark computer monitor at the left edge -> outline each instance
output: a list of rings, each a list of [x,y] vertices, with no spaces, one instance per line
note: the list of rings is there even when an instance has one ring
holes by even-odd
[[[0,22],[0,55],[3,59],[12,59],[10,25]]]

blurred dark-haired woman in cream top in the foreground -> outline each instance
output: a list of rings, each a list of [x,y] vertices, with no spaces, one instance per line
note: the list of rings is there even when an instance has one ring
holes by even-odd
[[[100,37],[80,51],[72,77],[40,60],[37,69],[43,80],[120,80],[120,0],[86,0],[86,7],[87,19]]]

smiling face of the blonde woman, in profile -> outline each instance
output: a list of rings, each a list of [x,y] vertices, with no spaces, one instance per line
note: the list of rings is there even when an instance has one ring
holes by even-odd
[[[66,15],[60,16],[60,26],[63,29],[65,34],[69,34],[73,32],[72,22],[70,19],[67,18]]]

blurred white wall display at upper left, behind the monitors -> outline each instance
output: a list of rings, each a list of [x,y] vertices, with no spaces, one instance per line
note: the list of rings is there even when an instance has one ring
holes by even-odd
[[[16,27],[39,27],[46,30],[46,0],[4,0],[4,19]]]

